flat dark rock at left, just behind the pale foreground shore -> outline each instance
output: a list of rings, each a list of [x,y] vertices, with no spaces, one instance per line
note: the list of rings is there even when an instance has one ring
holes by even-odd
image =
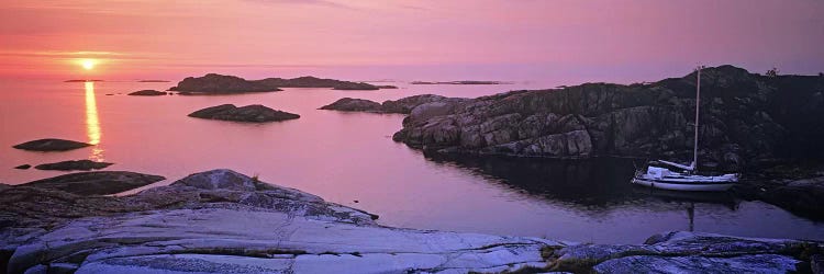
[[[77,195],[109,195],[166,180],[164,176],[129,171],[79,172],[22,184]]]

